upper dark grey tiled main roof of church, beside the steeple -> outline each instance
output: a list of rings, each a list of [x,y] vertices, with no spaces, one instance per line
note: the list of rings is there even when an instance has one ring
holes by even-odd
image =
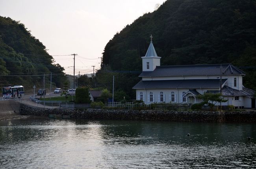
[[[177,66],[156,66],[156,69],[154,71],[142,72],[139,77],[220,75],[221,72],[223,75],[245,75],[245,72],[239,70],[232,64],[195,64]]]

